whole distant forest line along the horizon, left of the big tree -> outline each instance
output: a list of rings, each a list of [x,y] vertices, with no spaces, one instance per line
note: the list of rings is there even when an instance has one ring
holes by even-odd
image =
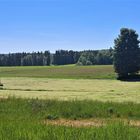
[[[110,65],[113,49],[0,54],[0,66]]]

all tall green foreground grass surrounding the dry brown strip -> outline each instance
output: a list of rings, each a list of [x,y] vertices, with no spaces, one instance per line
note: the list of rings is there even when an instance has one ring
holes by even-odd
[[[113,122],[101,127],[46,125],[43,120],[140,119],[140,104],[38,99],[1,99],[1,140],[139,140],[140,129]]]

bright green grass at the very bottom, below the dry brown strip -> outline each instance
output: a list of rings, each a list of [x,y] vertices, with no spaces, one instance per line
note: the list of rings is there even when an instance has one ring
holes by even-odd
[[[1,122],[1,140],[139,140],[140,129],[123,123],[100,128],[46,126],[32,122]]]

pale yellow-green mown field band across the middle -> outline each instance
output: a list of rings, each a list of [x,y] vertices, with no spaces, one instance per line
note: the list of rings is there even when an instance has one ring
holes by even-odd
[[[140,83],[102,79],[1,78],[1,97],[140,103]]]

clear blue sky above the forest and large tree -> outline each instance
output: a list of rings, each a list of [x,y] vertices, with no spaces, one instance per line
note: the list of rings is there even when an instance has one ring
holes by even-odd
[[[0,0],[0,53],[113,47],[140,34],[140,0]]]

